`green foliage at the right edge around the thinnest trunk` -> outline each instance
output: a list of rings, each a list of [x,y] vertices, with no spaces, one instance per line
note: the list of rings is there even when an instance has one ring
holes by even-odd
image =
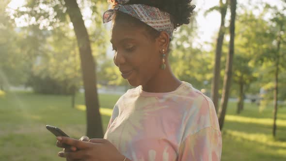
[[[284,5],[286,5],[284,3]],[[264,18],[267,14],[271,14],[271,17]],[[277,9],[277,7],[264,4],[264,10],[259,15],[260,22],[264,22],[262,27],[256,28],[255,30],[260,31],[260,34],[256,34],[255,38],[260,42],[260,46],[257,45],[259,52],[254,55],[254,61],[252,62],[259,65],[259,77],[262,88],[266,93],[262,96],[262,104],[268,104],[273,99],[272,92],[274,90],[274,73],[276,70],[276,64],[278,63],[278,100],[286,99],[286,91],[280,90],[285,88],[285,76],[283,73],[286,71],[286,54],[285,54],[285,43],[286,36],[283,34],[286,31],[286,15]],[[265,32],[266,31],[266,32]],[[277,50],[278,40],[280,41],[280,50]],[[280,63],[279,63],[280,62]],[[268,77],[265,77],[268,76]],[[281,83],[280,83],[281,82]]]

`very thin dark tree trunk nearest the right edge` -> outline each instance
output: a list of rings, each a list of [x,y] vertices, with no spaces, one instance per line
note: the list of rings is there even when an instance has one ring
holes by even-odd
[[[281,30],[282,31],[282,25]],[[279,32],[280,33],[280,32]],[[274,87],[274,116],[273,116],[273,131],[272,135],[276,136],[276,119],[277,119],[277,110],[278,110],[278,76],[279,76],[279,59],[280,59],[280,44],[281,44],[281,34],[279,34],[277,42],[277,53],[276,53],[276,64],[275,64],[275,87]]]

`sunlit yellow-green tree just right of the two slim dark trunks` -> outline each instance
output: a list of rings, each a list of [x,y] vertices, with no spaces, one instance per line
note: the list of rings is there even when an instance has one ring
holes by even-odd
[[[260,28],[264,29],[265,26],[261,24],[263,23],[260,23],[252,10],[249,9],[245,9],[240,13],[236,21],[236,54],[233,62],[233,81],[238,85],[238,114],[243,110],[244,96],[247,89],[258,77],[252,61],[257,51],[255,48],[259,46],[256,38],[257,34],[260,35]],[[263,31],[263,29],[261,30]],[[258,91],[259,88],[254,93],[257,94]]]

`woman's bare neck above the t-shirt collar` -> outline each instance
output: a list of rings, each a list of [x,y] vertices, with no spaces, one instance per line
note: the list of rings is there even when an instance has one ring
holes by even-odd
[[[160,71],[150,81],[142,85],[142,89],[145,92],[166,93],[175,91],[181,83],[172,73],[170,66],[167,65],[165,70]]]

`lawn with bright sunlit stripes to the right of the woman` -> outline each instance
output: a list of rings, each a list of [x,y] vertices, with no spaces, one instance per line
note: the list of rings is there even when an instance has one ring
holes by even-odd
[[[273,108],[259,112],[246,104],[236,114],[230,103],[222,131],[222,161],[286,161],[286,108],[278,109],[276,137],[272,137]]]

